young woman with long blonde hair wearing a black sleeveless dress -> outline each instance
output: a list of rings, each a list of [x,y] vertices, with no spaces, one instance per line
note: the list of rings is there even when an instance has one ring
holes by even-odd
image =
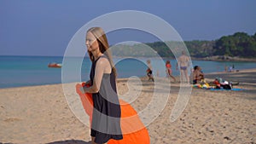
[[[107,143],[110,139],[121,140],[121,111],[116,89],[116,71],[108,39],[101,27],[92,27],[86,33],[86,46],[92,61],[90,81],[83,87],[84,93],[92,93],[93,114],[91,122],[92,143]]]

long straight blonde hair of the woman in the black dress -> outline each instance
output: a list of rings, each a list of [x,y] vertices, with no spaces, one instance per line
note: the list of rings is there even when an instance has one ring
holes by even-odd
[[[112,71],[115,75],[115,77],[117,76],[117,72],[116,69],[113,65],[113,60],[112,60],[112,55],[111,55],[111,51],[109,49],[109,45],[108,45],[108,39],[106,37],[105,32],[102,30],[101,27],[91,27],[88,31],[91,32],[93,34],[94,37],[96,37],[97,42],[99,43],[99,48],[100,51],[102,52],[102,54],[106,55],[108,57],[109,63],[112,67]],[[90,51],[88,51],[88,54],[90,56],[90,60],[94,60],[94,56],[92,55],[92,53]]]

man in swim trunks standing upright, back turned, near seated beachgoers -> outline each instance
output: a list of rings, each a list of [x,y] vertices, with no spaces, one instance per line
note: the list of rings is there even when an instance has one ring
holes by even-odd
[[[179,66],[181,71],[181,80],[185,77],[185,81],[189,83],[189,74],[188,74],[188,68],[189,68],[189,56],[185,55],[185,51],[182,51],[182,55],[178,57],[177,59],[177,67]]]

